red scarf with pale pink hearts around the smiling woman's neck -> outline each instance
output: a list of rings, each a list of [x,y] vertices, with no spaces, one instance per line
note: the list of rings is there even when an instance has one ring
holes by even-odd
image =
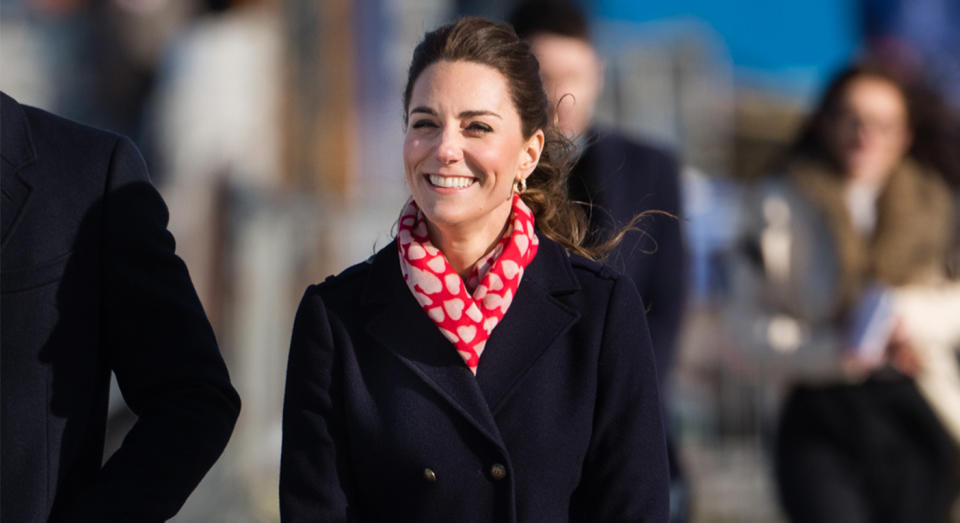
[[[514,195],[507,232],[496,248],[477,262],[465,283],[430,243],[427,224],[416,202],[411,201],[400,216],[397,246],[403,279],[474,374],[487,339],[510,307],[539,244],[533,230],[533,212],[519,195]]]

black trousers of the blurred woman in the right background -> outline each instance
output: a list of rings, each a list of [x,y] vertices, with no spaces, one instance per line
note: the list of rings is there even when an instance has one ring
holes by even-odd
[[[794,523],[941,523],[960,491],[960,450],[900,375],[797,387],[776,466]]]

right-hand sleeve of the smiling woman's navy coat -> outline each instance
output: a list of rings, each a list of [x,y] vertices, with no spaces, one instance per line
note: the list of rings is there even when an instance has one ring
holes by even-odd
[[[593,436],[571,520],[666,522],[670,473],[656,366],[636,288],[614,285],[597,377]]]

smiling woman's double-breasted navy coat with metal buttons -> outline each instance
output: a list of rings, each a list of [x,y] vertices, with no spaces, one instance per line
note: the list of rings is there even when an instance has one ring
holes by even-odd
[[[307,289],[287,369],[282,521],[667,520],[636,289],[540,239],[476,376],[411,295],[395,242]]]

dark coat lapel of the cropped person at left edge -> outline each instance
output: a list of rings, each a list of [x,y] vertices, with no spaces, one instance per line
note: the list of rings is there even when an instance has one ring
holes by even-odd
[[[23,108],[2,92],[0,118],[0,246],[6,246],[30,199],[33,188],[21,171],[36,160],[36,152]]]

